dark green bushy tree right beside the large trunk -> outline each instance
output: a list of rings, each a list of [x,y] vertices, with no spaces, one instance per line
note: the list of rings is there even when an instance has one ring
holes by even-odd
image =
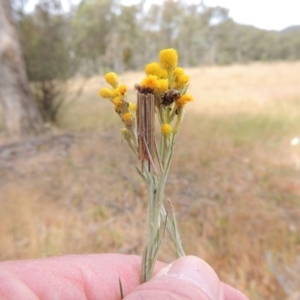
[[[46,122],[57,121],[65,99],[65,82],[74,75],[69,27],[69,19],[56,0],[41,0],[33,13],[18,16],[27,74]]]

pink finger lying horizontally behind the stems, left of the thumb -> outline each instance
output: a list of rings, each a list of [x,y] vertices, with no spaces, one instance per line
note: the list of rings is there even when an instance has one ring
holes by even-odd
[[[163,266],[158,262],[155,272]],[[126,296],[140,285],[140,268],[139,256],[122,254],[1,262],[0,299],[25,292],[26,299],[120,299],[119,278]]]

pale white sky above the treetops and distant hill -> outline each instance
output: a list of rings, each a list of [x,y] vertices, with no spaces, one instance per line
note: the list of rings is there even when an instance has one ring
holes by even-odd
[[[186,0],[188,3],[199,3],[200,0]],[[33,10],[37,0],[29,0],[27,9]],[[64,9],[69,3],[80,0],[62,0]],[[139,0],[122,0],[125,5],[138,3]],[[161,3],[159,0],[148,0]],[[282,30],[291,25],[300,25],[300,0],[205,0],[208,6],[222,6],[229,9],[229,15],[237,23],[253,25],[268,30]]]

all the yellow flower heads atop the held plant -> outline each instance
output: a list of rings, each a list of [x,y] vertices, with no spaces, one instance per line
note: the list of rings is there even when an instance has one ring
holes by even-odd
[[[160,51],[159,61],[151,62],[145,66],[146,76],[140,84],[136,85],[139,92],[150,92],[155,95],[156,112],[159,115],[162,124],[161,133],[164,136],[177,132],[181,124],[182,108],[193,100],[192,95],[187,93],[190,77],[177,64],[178,54],[175,49]],[[125,129],[129,129],[136,118],[136,104],[127,102],[127,86],[119,84],[116,73],[109,72],[105,74],[104,78],[110,87],[103,87],[99,94],[113,103]],[[165,109],[166,106],[169,107],[168,110]],[[178,121],[172,128],[171,124],[176,116]],[[124,136],[126,135],[125,131],[122,133]]]

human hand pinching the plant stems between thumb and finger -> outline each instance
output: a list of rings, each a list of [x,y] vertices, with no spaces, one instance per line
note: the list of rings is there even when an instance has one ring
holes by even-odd
[[[117,300],[119,279],[124,300],[247,300],[220,282],[213,269],[195,256],[170,265],[158,262],[154,277],[140,284],[141,258],[135,255],[69,255],[0,263],[0,299]]]

